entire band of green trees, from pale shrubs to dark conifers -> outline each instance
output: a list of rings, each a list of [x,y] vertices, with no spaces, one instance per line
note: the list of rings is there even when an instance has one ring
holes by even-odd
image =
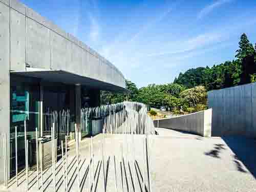
[[[189,69],[173,83],[149,84],[138,89],[126,80],[128,95],[101,92],[101,103],[137,101],[159,108],[166,106],[174,114],[202,111],[207,108],[207,91],[228,88],[256,81],[256,45],[242,34],[234,60],[220,65]]]

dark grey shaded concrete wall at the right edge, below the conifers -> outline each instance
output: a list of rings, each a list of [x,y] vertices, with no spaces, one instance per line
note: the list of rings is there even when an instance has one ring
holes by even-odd
[[[208,92],[212,135],[256,137],[256,83]]]

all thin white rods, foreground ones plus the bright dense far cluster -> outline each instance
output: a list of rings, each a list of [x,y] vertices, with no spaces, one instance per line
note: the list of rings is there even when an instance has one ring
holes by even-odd
[[[125,106],[125,109],[123,108]],[[121,108],[122,107],[122,108]],[[135,178],[135,146],[134,146],[134,135],[135,134],[142,134],[143,135],[143,191],[145,191],[145,147],[148,150],[147,146],[147,135],[151,133],[151,130],[146,130],[145,127],[150,127],[152,121],[148,120],[150,118],[147,117],[147,106],[141,103],[134,103],[134,102],[124,102],[120,105],[117,105],[117,108],[120,108],[117,113],[109,113],[109,116],[107,116],[104,119],[104,125],[103,125],[103,134],[102,139],[100,140],[100,149],[101,149],[101,156],[102,156],[102,163],[103,163],[103,188],[105,192],[105,167],[104,167],[104,151],[105,151],[105,135],[107,134],[130,134],[133,139],[133,146],[132,146],[132,154],[133,154],[133,173]],[[115,112],[115,111],[114,111]],[[101,113],[101,112],[98,112]],[[26,158],[26,190],[29,190],[29,179],[28,179],[28,170],[29,170],[29,163],[28,163],[28,140],[27,140],[27,128],[26,128],[26,121],[24,123],[25,127],[25,158]],[[79,156],[80,156],[80,142],[79,142],[79,132],[77,129],[77,126],[75,124],[75,150],[76,150],[76,166],[77,166],[77,186],[80,191],[80,167],[79,167]],[[125,135],[124,135],[125,136]],[[123,138],[123,141],[126,139],[127,142],[127,136],[126,138]],[[115,139],[112,140],[112,142]],[[6,134],[4,135],[4,173],[5,173],[5,186],[8,187],[8,162],[7,162],[7,139]],[[93,152],[93,137],[91,137],[90,140],[90,163],[89,163],[89,180],[90,180],[90,189],[95,188],[94,183],[94,174],[92,175],[91,172],[94,173],[94,152]],[[126,143],[127,144],[127,143]],[[128,144],[127,144],[128,146]],[[124,159],[127,159],[125,157],[125,154],[123,153],[123,143],[120,143],[120,153],[121,153],[121,159],[122,164],[124,166]],[[63,151],[63,141],[61,140],[61,155],[62,155],[62,178],[63,178],[63,185],[65,192],[68,191],[68,171],[67,171],[67,164],[68,164],[68,155],[67,155],[67,136],[65,137],[65,156]],[[56,173],[55,173],[55,163],[56,163],[56,143],[55,143],[55,123],[52,123],[51,126],[51,153],[52,153],[52,177],[53,177],[53,186],[54,186],[54,192],[56,191]],[[17,166],[17,127],[15,127],[15,169],[16,169],[16,185],[18,186],[18,166]],[[146,159],[148,161],[148,151],[146,153]],[[40,163],[39,163],[40,162]],[[40,167],[39,167],[40,165]],[[37,172],[37,188],[40,189],[41,192],[44,191],[44,178],[43,178],[43,167],[44,162],[42,158],[42,141],[38,140],[38,130],[36,128],[36,172]],[[115,191],[117,192],[117,175],[116,175],[116,159],[114,156],[114,168],[115,168]],[[40,169],[40,170],[39,170]],[[148,173],[151,173],[150,170],[150,163],[149,166],[147,166]],[[39,173],[40,173],[40,179],[39,179]],[[124,178],[122,172],[122,178]],[[151,186],[151,174],[149,174],[148,178],[148,189],[149,192],[152,192],[152,186]],[[122,179],[122,189],[124,191],[124,179]],[[134,187],[135,190],[135,187]]]

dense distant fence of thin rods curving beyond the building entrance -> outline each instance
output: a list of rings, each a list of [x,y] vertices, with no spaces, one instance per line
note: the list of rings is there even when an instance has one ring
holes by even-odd
[[[107,134],[155,134],[147,105],[143,103],[125,101],[81,109],[81,131],[89,132],[89,122],[100,119]]]

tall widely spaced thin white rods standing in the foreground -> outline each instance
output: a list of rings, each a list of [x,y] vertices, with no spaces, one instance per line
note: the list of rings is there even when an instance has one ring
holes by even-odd
[[[75,125],[76,126],[76,125]],[[56,159],[55,159],[55,156],[56,156],[56,146],[55,146],[55,129],[54,129],[54,124],[52,126],[52,140],[51,140],[51,148],[52,148],[52,177],[53,177],[53,191],[55,192],[56,191],[56,173],[55,173],[55,164],[56,164]],[[79,143],[79,140],[78,140],[78,132],[77,132],[77,127],[76,127],[76,138],[75,138],[75,150],[76,150],[76,155],[75,155],[75,158],[76,158],[76,171],[77,171],[77,177],[76,177],[76,181],[77,181],[77,187],[79,189],[79,191],[81,191],[81,180],[80,180],[80,165],[79,165],[79,157],[80,157],[80,150],[79,150],[79,145],[81,143]],[[36,144],[36,178],[37,178],[37,189],[38,191],[41,191],[43,192],[44,191],[44,178],[43,178],[43,173],[44,173],[44,170],[42,169],[44,164],[43,164],[43,159],[42,159],[42,142],[38,142],[38,137],[37,137],[37,134],[38,134],[38,130],[36,129],[36,140],[37,140],[37,144]],[[106,134],[104,131],[103,131],[103,134],[102,134],[102,138],[100,139],[99,143],[100,143],[100,152],[101,152],[101,157],[102,157],[102,178],[103,178],[103,189],[104,189],[104,192],[106,190],[106,178],[105,178],[105,137],[106,137]],[[121,166],[122,166],[122,170],[124,170],[124,166],[125,166],[125,161],[127,162],[128,164],[128,158],[127,158],[127,152],[124,153],[124,150],[123,148],[128,146],[128,143],[127,143],[127,135],[123,135],[123,139],[122,139],[122,142],[120,143],[115,143],[116,140],[115,139],[111,139],[111,144],[113,144],[114,146],[117,146],[119,145],[120,147],[120,163],[121,163]],[[132,146],[130,146],[132,148],[132,164],[133,164],[133,178],[135,178],[135,173],[136,173],[136,168],[135,168],[135,144],[134,144],[134,134],[130,135],[131,138],[132,138]],[[6,143],[6,135],[4,137],[4,143]],[[125,140],[126,140],[126,143],[125,143]],[[26,144],[26,191],[29,191],[29,177],[28,177],[28,170],[29,170],[29,167],[28,167],[28,140],[26,140],[27,144]],[[146,135],[143,135],[143,169],[142,169],[142,181],[143,181],[143,192],[146,191],[146,184],[145,184],[145,161],[146,159],[148,160],[148,156],[150,154],[148,154],[148,146],[147,146],[147,136]],[[64,192],[67,192],[68,191],[68,158],[67,158],[67,136],[65,138],[65,149],[66,149],[66,152],[65,152],[65,155],[64,155],[64,150],[63,150],[63,141],[61,141],[61,155],[62,155],[62,159],[61,159],[61,165],[62,165],[62,179],[63,179],[63,182],[62,182],[62,185],[63,185],[63,191]],[[94,167],[94,141],[93,141],[93,137],[91,137],[90,139],[90,148],[89,148],[89,151],[90,151],[90,162],[89,162],[89,181],[90,181],[90,188],[91,190],[90,191],[94,191],[95,189],[95,181],[94,181],[94,173],[95,172],[95,167]],[[4,145],[6,146],[6,145]],[[147,148],[147,154],[145,154],[145,147]],[[4,147],[6,148],[6,147]],[[16,150],[16,154],[17,154],[17,150]],[[8,176],[7,176],[7,155],[6,155],[6,151],[4,152],[4,156],[5,156],[5,185],[8,187]],[[39,156],[39,157],[38,157]],[[16,156],[17,158],[17,156]],[[146,159],[145,159],[146,158]],[[148,160],[149,161],[149,160]],[[115,155],[113,156],[113,162],[114,162],[114,170],[115,170],[115,176],[114,176],[114,180],[115,180],[115,191],[117,192],[118,191],[118,186],[117,186],[117,166],[116,166],[116,157]],[[148,173],[151,173],[151,170],[150,170],[150,166],[147,166],[147,172]],[[122,188],[122,191],[125,190],[125,187],[124,187],[124,171],[121,172],[121,177],[122,177],[122,186],[120,186]],[[40,177],[39,177],[40,175]],[[149,176],[151,177],[151,174],[149,174]],[[17,173],[17,161],[16,161],[16,185],[18,187],[18,173]],[[134,180],[134,182],[136,182]],[[151,186],[151,178],[149,178],[148,180],[148,191],[152,191],[152,186]],[[134,184],[134,191],[135,191],[135,184]]]

